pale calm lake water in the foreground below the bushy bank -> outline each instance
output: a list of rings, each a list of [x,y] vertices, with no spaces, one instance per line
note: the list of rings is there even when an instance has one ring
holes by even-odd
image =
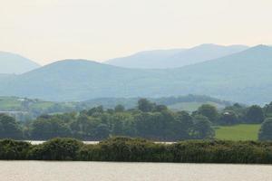
[[[0,161],[2,181],[270,181],[272,166]]]

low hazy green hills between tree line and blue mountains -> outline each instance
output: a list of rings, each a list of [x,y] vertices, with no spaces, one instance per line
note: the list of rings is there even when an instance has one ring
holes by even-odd
[[[102,106],[104,110],[114,109],[116,105],[123,105],[126,109],[134,109],[140,98],[100,98],[86,101],[55,102],[38,99],[0,96],[0,113],[14,116],[24,121],[34,119],[43,114],[56,114],[63,112],[89,110],[96,106]],[[180,97],[165,97],[159,99],[149,98],[157,104],[164,104],[171,110],[194,111],[202,104],[209,103],[219,110],[231,103],[225,100],[218,100],[209,96],[187,95]]]

